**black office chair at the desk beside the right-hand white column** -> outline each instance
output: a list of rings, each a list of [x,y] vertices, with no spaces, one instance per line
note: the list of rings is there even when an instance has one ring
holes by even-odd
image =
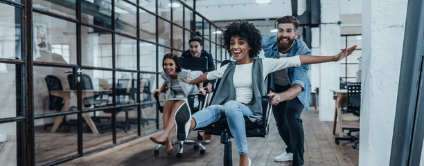
[[[354,116],[360,116],[361,109],[361,83],[353,83],[347,86],[347,107],[343,112],[353,113]],[[348,130],[347,137],[336,137],[335,144],[339,145],[340,140],[348,140],[354,142],[352,145],[353,149],[357,148],[359,143],[359,136],[352,136],[352,132],[360,131],[360,128],[355,127],[343,127],[343,131]]]

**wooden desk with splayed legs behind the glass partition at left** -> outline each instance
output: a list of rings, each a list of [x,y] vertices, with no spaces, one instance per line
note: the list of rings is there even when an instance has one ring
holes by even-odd
[[[76,95],[76,91],[71,91],[71,90],[63,90],[63,91],[49,91],[49,93],[51,95],[55,95],[57,97],[63,98],[64,101],[64,106],[62,107],[62,112],[63,111],[68,111],[69,108],[73,105],[71,104],[71,95]],[[112,93],[111,90],[103,90],[103,91],[98,91],[98,90],[82,90],[82,98],[87,98],[89,96],[93,96],[93,95],[103,95],[103,94],[109,94]],[[84,104],[82,104],[82,108],[84,108]],[[64,116],[58,116],[55,120],[55,123],[53,124],[53,127],[51,128],[51,133],[54,133],[60,123],[62,122]],[[96,125],[94,124],[93,120],[91,120],[90,116],[88,113],[82,113],[82,118],[84,118],[85,122],[87,122],[87,124],[89,125],[91,131],[93,131],[93,133],[98,133],[98,130],[96,128]]]

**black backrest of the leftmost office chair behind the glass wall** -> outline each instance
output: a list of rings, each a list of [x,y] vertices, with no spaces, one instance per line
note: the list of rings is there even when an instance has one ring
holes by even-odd
[[[46,75],[44,77],[46,80],[48,91],[62,91],[62,82],[60,82],[59,78],[54,75]],[[62,107],[64,105],[63,98],[56,97],[55,95],[48,95],[48,109],[62,111]]]

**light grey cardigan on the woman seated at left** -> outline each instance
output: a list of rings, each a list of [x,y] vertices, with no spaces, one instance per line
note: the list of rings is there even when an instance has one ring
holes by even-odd
[[[184,95],[186,95],[186,97],[189,94],[197,93],[197,91],[199,91],[199,88],[197,88],[197,86],[194,85],[194,84],[188,84],[187,82],[184,82],[183,80],[181,80],[181,77],[186,78],[187,76],[190,76],[193,79],[195,79],[202,74],[203,74],[202,71],[191,71],[191,70],[186,70],[186,69],[182,69],[180,72],[177,73],[177,79],[178,79],[179,85],[181,86],[182,90],[184,91]],[[165,80],[164,85],[166,85],[166,86],[168,86],[168,88],[170,88],[170,82],[171,82],[170,75],[168,75],[167,73],[162,71],[161,77]],[[174,98],[174,97],[175,97],[174,91],[170,91],[168,98]],[[197,102],[197,100],[195,101],[195,105],[197,104],[196,102]]]

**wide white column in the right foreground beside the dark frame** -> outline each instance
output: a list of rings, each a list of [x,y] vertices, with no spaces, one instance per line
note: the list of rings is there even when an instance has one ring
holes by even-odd
[[[407,0],[362,1],[359,165],[389,165]]]

